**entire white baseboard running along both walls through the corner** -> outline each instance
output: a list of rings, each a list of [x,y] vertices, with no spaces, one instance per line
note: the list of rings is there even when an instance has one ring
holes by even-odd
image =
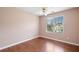
[[[75,44],[75,43],[71,43],[71,42],[67,42],[67,41],[63,41],[63,40],[58,40],[58,39],[54,39],[54,38],[50,38],[50,37],[46,37],[46,36],[35,36],[35,37],[29,38],[29,39],[26,39],[26,40],[23,40],[23,41],[20,41],[20,42],[17,42],[17,43],[13,43],[13,44],[10,44],[10,45],[4,46],[4,47],[0,47],[0,50],[3,50],[5,48],[11,47],[11,46],[15,46],[17,44],[20,44],[20,43],[23,43],[23,42],[26,42],[26,41],[29,41],[29,40],[32,40],[32,39],[38,38],[38,37],[48,38],[48,39],[51,39],[51,40],[56,40],[56,41],[60,41],[60,42],[79,46],[79,44]]]

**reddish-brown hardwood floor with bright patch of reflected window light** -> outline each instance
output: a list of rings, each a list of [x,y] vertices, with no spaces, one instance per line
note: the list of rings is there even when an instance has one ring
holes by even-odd
[[[1,52],[79,52],[79,46],[39,37],[3,49]]]

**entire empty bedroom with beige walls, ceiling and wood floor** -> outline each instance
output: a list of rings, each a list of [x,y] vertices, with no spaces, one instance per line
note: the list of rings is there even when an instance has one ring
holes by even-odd
[[[0,7],[0,52],[79,52],[79,7]]]

